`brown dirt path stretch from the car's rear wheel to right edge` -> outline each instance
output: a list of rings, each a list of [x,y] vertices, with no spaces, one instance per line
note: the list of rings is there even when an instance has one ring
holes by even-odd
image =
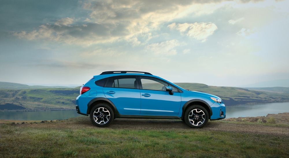
[[[208,124],[201,129],[192,129],[188,127],[181,120],[144,120],[144,119],[116,119],[110,128],[119,129],[151,129],[151,130],[170,130],[170,129],[184,129],[184,130],[214,130],[214,131],[229,131],[229,132],[246,132],[246,133],[260,133],[273,135],[288,135],[289,127],[281,126],[263,126],[256,124],[235,124],[227,122],[208,122]]]

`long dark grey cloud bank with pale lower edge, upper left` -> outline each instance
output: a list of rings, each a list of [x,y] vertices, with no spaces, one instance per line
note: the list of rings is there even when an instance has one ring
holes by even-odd
[[[83,25],[71,25],[73,19],[63,18],[54,24],[44,24],[32,32],[15,32],[13,35],[28,40],[43,39],[67,44],[92,45],[96,43],[112,42],[119,38],[111,31],[120,34],[121,26],[86,23]],[[119,30],[119,31],[118,31]]]

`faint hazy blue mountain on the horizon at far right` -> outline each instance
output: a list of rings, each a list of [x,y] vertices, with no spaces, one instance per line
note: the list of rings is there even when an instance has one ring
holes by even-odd
[[[289,79],[257,82],[254,84],[247,84],[239,87],[289,87]]]

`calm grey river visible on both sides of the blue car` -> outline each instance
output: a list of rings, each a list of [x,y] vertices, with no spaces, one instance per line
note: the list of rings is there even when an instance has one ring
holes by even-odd
[[[226,107],[226,118],[266,116],[268,113],[289,112],[288,103],[268,103]],[[0,112],[0,120],[64,120],[84,116],[76,110],[8,111]]]

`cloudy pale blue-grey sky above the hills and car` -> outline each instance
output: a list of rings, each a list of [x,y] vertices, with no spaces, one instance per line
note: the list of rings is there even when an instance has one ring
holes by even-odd
[[[0,81],[82,85],[104,71],[242,86],[289,79],[287,0],[1,0]]]

